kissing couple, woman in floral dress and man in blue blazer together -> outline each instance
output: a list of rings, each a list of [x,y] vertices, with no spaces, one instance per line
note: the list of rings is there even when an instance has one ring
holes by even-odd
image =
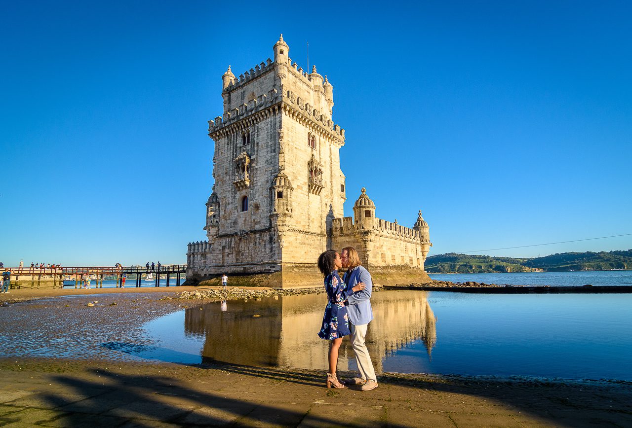
[[[344,388],[344,384],[362,385],[362,391],[377,388],[377,377],[365,345],[368,323],[373,319],[371,309],[372,280],[368,271],[360,264],[354,247],[344,247],[340,253],[327,250],[320,254],[318,267],[325,277],[327,307],[318,335],[329,340],[329,372],[327,388]],[[338,270],[346,268],[341,279]],[[343,337],[351,335],[351,347],[355,352],[358,374],[351,379],[338,380],[338,352]]]

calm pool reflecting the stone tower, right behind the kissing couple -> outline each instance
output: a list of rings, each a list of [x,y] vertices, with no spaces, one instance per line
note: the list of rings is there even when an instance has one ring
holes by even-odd
[[[632,380],[630,294],[382,291],[372,303],[367,345],[379,372]],[[325,369],[324,306],[324,295],[205,304],[145,324],[153,347],[119,352]],[[341,370],[355,369],[351,357],[346,338]]]

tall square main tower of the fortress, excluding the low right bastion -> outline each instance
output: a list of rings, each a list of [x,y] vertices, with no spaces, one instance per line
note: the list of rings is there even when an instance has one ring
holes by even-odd
[[[332,218],[343,215],[344,129],[332,122],[332,85],[291,61],[283,35],[273,50],[274,61],[222,75],[224,114],[209,121],[208,242],[188,253],[202,277],[277,273],[266,282],[285,283],[313,271]]]

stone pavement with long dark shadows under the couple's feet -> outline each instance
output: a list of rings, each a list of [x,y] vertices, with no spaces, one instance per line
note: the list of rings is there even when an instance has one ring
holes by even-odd
[[[7,427],[632,426],[632,384],[384,374],[326,389],[293,369],[1,360]]]

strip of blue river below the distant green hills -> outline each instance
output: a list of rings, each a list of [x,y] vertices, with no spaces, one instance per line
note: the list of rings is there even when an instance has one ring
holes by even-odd
[[[632,270],[515,273],[431,273],[441,281],[512,285],[632,285]]]

